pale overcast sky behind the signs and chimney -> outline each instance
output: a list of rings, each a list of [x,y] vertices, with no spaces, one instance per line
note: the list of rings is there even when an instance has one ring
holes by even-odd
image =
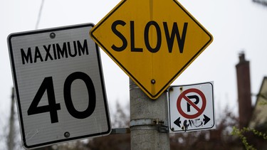
[[[79,23],[98,23],[119,0],[46,0],[38,28]],[[226,105],[237,111],[235,65],[244,51],[250,60],[251,90],[256,94],[267,75],[267,7],[252,0],[179,1],[213,35],[214,41],[172,85],[214,81],[215,112]],[[36,28],[41,0],[9,0],[0,5],[0,130],[9,117],[13,86],[6,38],[10,33]],[[129,102],[129,81],[125,73],[101,50],[108,103]],[[255,100],[255,97],[253,97]]]

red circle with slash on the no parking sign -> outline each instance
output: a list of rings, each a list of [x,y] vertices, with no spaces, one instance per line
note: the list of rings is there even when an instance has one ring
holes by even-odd
[[[188,97],[187,97],[187,94],[189,92],[193,92],[193,93],[197,93],[200,97],[201,97],[201,100],[202,100],[202,107],[199,108],[197,107],[197,105],[194,104],[194,102],[192,102]],[[181,107],[181,102],[182,100],[186,100],[189,105],[191,105],[192,107],[194,107],[194,109],[197,110],[197,113],[196,114],[187,114],[185,113],[183,110],[182,110],[182,107]],[[178,112],[185,118],[187,119],[194,119],[194,118],[197,118],[199,117],[203,112],[204,112],[204,109],[206,107],[206,97],[205,95],[203,94],[203,92],[201,92],[200,90],[198,89],[195,89],[195,88],[191,88],[191,89],[188,89],[188,90],[184,90],[184,92],[181,93],[181,95],[179,95],[178,99],[177,99],[177,109],[178,109]]]

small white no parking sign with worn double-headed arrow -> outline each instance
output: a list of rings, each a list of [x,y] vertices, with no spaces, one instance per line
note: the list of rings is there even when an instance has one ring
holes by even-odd
[[[215,129],[213,90],[213,82],[169,87],[169,131]]]

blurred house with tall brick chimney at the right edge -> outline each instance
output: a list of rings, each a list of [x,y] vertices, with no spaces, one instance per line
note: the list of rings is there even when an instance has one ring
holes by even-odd
[[[236,77],[239,102],[239,129],[248,127],[257,132],[267,132],[267,77],[263,78],[261,89],[256,95],[256,105],[251,105],[251,80],[249,61],[245,54],[239,55],[239,63],[236,65]],[[266,139],[253,132],[244,132],[248,144],[256,149],[267,149]]]

